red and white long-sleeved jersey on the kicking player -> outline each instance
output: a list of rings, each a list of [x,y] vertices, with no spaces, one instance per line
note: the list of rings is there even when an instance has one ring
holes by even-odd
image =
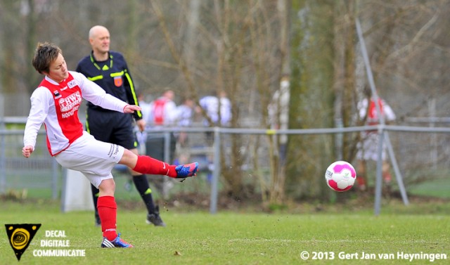
[[[69,77],[59,84],[49,77],[34,90],[30,115],[23,138],[24,146],[36,145],[37,132],[45,124],[50,155],[58,155],[83,134],[78,118],[82,98],[109,110],[123,112],[127,103],[105,93],[100,86],[78,72],[69,71]]]

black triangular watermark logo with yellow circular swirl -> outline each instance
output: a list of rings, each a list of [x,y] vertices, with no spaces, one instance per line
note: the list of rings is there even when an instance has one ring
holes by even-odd
[[[20,261],[41,224],[5,224],[5,227],[9,244],[15,252],[15,257]]]

